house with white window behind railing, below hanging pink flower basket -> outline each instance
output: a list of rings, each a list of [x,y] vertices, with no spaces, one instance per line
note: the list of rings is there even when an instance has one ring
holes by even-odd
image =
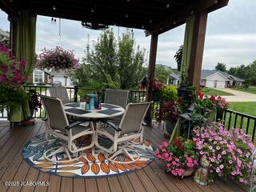
[[[34,84],[48,84],[53,85],[55,82],[60,82],[61,86],[72,86],[70,77],[66,75],[64,70],[39,70],[35,69],[33,72]]]

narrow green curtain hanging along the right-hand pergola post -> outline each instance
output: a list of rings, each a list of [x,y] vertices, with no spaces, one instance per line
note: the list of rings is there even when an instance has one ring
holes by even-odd
[[[181,65],[181,71],[179,75],[180,84],[186,83],[188,78],[193,27],[194,27],[194,15],[190,16],[189,18],[186,18],[186,30],[185,30],[185,37],[184,37],[183,51],[182,51],[182,65]],[[174,140],[174,138],[177,138],[180,135],[180,130],[181,130],[181,120],[180,118],[178,118],[178,121],[173,130],[173,133],[171,134],[170,141]]]

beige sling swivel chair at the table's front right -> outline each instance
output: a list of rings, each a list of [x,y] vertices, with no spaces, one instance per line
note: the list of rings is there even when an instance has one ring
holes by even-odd
[[[151,103],[152,102],[140,102],[128,104],[118,126],[109,120],[102,121],[108,124],[109,127],[96,130],[95,145],[111,154],[111,157],[109,156],[108,160],[116,162],[114,161],[114,158],[117,157],[118,154],[125,154],[130,158],[129,162],[122,163],[130,163],[138,160],[139,154],[134,149],[130,148],[128,144],[135,138],[139,138],[140,143],[143,142],[144,127],[142,126],[142,120],[145,118],[146,111],[149,109]],[[110,146],[109,149],[99,145],[98,137],[101,136],[109,138],[113,142],[113,145]],[[132,154],[136,154],[137,157],[134,158],[134,155]]]

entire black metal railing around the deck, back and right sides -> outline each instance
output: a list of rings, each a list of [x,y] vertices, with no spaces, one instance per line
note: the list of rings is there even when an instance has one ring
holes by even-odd
[[[25,90],[36,90],[39,94],[50,96],[48,90],[49,86],[34,86],[34,85],[25,85]],[[78,86],[66,86],[67,94],[69,96],[70,102],[78,102],[78,92],[79,90],[84,90],[85,93],[97,93],[98,98],[101,101],[104,101],[106,90],[93,90],[87,88],[81,88]],[[128,96],[128,102],[145,102],[146,101],[146,91],[145,90],[130,90]],[[154,102],[153,110],[151,111],[151,118],[155,119],[155,114],[159,110],[159,102]],[[0,118],[7,118],[7,111],[0,111]],[[34,113],[34,118],[46,118],[45,110],[38,109],[38,112]],[[256,117],[249,114],[242,114],[234,110],[225,110],[222,122],[226,129],[230,130],[232,128],[241,128],[246,131],[246,134],[252,136],[252,140],[255,138],[256,131]]]

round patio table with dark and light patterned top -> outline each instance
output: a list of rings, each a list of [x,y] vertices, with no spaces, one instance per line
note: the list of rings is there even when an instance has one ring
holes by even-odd
[[[112,104],[102,103],[102,109],[101,110],[84,110],[80,107],[79,102],[71,102],[66,103],[64,105],[64,110],[66,114],[69,114],[70,116],[74,116],[77,118],[85,118],[86,120],[90,121],[90,127],[92,130],[94,130],[94,133],[97,132],[96,122],[101,121],[103,118],[114,118],[122,115],[125,110],[121,106],[115,106]],[[100,146],[98,144],[98,137],[96,137],[96,134],[94,134],[94,138],[92,138],[95,146],[98,148],[104,150],[104,147]],[[94,149],[94,148],[93,148]],[[94,150],[93,154],[94,154]]]

